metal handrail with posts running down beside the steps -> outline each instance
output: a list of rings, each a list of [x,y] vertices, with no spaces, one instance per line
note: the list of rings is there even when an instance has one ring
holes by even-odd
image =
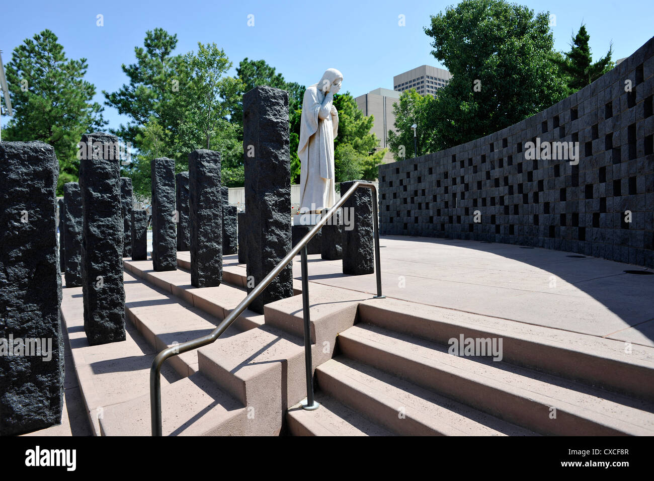
[[[220,337],[220,335],[225,332],[225,330],[232,325],[233,321],[235,321],[243,311],[247,309],[247,307],[250,305],[250,303],[259,296],[266,287],[268,287],[269,283],[277,277],[277,275],[293,260],[296,255],[300,252],[300,250],[304,249],[303,251],[303,256],[302,256],[302,262],[303,262],[303,269],[302,269],[302,277],[303,277],[303,285],[308,284],[308,279],[305,279],[307,276],[306,272],[306,246],[320,230],[324,224],[327,223],[329,219],[331,219],[332,215],[336,213],[336,211],[345,203],[345,201],[354,193],[354,190],[356,190],[359,187],[366,187],[370,188],[372,190],[373,194],[373,202],[372,202],[372,217],[373,217],[373,226],[374,226],[374,233],[375,233],[375,274],[377,275],[377,295],[374,296],[374,298],[384,298],[385,296],[382,295],[381,293],[381,268],[380,268],[380,260],[379,260],[379,217],[377,213],[377,188],[373,183],[370,182],[355,182],[354,185],[345,193],[344,196],[341,196],[341,198],[334,204],[334,207],[332,207],[324,217],[321,217],[320,221],[315,224],[315,226],[305,235],[298,244],[293,247],[293,249],[290,250],[290,252],[284,257],[273,270],[271,270],[264,279],[252,291],[250,291],[249,294],[240,302],[238,306],[236,306],[232,312],[230,312],[227,317],[225,317],[220,324],[211,331],[210,334],[207,334],[205,336],[202,336],[197,339],[192,339],[190,341],[182,342],[181,344],[176,344],[173,347],[167,347],[166,349],[163,349],[160,353],[154,357],[154,360],[152,361],[152,366],[150,367],[150,418],[152,421],[152,436],[161,436],[162,435],[162,397],[161,397],[161,368],[163,365],[163,362],[166,359],[169,359],[169,357],[173,357],[175,355],[179,355],[181,353],[185,353],[188,351],[191,351],[192,349],[197,349],[198,347],[202,346],[207,346],[207,344],[211,344],[212,342],[215,342],[216,339]],[[306,289],[303,289],[305,291]],[[304,312],[304,321],[305,321],[305,355],[307,355],[307,401],[311,401],[313,404],[313,382],[312,382],[312,376],[313,376],[313,369],[311,368],[311,363],[310,363],[310,355],[311,355],[311,339],[308,338],[308,333],[307,333],[307,325],[309,323],[308,315],[309,315],[309,296],[308,293],[304,294],[303,293],[303,312]],[[308,347],[307,347],[308,346]],[[308,351],[308,352],[307,352]],[[311,407],[311,404],[309,404]]]

